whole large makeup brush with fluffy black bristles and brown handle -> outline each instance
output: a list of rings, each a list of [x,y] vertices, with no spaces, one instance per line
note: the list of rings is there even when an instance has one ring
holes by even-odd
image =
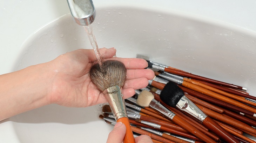
[[[190,101],[175,83],[168,82],[160,94],[161,100],[171,107],[177,107],[180,110],[193,116],[200,121],[205,127],[213,131],[223,141],[228,143],[239,143],[236,138],[228,131],[223,129],[213,119],[202,112],[192,101]]]

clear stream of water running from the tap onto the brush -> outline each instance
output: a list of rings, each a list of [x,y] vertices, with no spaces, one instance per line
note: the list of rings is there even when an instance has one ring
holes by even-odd
[[[85,31],[87,32],[87,35],[88,35],[89,40],[90,40],[90,43],[91,43],[91,45],[93,47],[93,50],[94,50],[94,53],[95,53],[95,55],[97,57],[99,66],[102,69],[102,65],[103,65],[102,62],[103,61],[101,59],[101,55],[100,55],[100,50],[99,50],[98,44],[97,44],[96,39],[95,39],[94,34],[93,34],[93,25],[90,24],[88,26],[84,26],[84,28],[85,28]]]

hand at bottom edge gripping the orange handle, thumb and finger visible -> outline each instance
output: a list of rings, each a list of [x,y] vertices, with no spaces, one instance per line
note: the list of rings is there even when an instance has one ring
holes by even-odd
[[[109,133],[107,143],[122,143],[126,134],[126,126],[121,122],[117,122],[114,129]],[[135,137],[135,143],[153,143],[147,135]]]

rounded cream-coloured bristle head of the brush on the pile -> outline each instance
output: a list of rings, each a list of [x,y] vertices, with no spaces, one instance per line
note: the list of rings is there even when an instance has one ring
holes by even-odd
[[[140,105],[142,107],[148,107],[151,100],[153,100],[153,99],[154,99],[154,95],[151,92],[143,90],[138,95],[136,102],[138,105]]]

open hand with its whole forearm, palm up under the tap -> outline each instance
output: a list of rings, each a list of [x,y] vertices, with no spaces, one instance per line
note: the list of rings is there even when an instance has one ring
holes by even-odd
[[[123,86],[124,98],[144,88],[154,72],[147,62],[136,58],[117,58],[114,48],[101,48],[102,59],[124,63],[127,80]],[[0,121],[13,115],[48,104],[68,107],[87,107],[106,103],[105,96],[90,81],[89,71],[96,61],[93,50],[79,49],[56,59],[0,75]]]

